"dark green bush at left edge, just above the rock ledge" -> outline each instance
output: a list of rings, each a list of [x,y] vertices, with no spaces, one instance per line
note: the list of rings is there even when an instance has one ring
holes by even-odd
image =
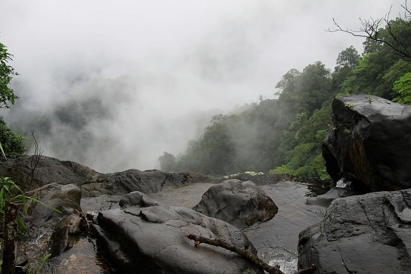
[[[27,147],[24,143],[24,138],[21,135],[15,134],[10,130],[0,116],[0,143],[2,144],[2,153],[5,157],[20,156],[27,152]]]

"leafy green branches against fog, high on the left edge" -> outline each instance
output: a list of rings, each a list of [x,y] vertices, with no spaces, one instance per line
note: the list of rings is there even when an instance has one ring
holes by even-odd
[[[17,75],[14,68],[7,64],[12,57],[7,52],[7,47],[0,43],[0,108],[9,108],[9,103],[14,104],[17,99],[13,89],[8,86],[13,76]]]

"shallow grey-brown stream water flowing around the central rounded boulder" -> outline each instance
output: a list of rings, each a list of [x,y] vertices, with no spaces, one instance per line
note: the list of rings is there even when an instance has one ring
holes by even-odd
[[[163,190],[150,194],[171,206],[192,208],[212,184],[194,184],[179,189]],[[322,194],[323,189],[312,184],[282,181],[260,186],[278,207],[270,221],[242,229],[257,248],[261,258],[271,265],[278,264],[286,273],[297,270],[296,247],[298,233],[320,221],[324,208],[305,204],[307,196]]]

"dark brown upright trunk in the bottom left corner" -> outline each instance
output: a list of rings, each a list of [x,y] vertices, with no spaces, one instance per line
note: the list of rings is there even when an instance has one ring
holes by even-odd
[[[14,274],[16,263],[16,238],[18,231],[17,216],[18,205],[6,202],[2,274]]]

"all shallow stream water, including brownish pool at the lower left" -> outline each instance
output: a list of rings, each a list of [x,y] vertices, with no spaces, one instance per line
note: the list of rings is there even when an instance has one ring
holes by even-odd
[[[192,208],[213,184],[197,183],[177,189],[167,189],[149,196],[171,206]],[[278,264],[286,273],[297,269],[296,247],[298,233],[320,221],[323,208],[305,205],[306,196],[322,194],[315,185],[282,181],[260,186],[275,202],[278,213],[272,220],[242,229],[258,250],[261,258],[271,265]],[[101,207],[91,208],[87,198],[82,200],[83,210],[104,210],[113,203],[103,197]],[[116,205],[118,204],[116,197]],[[108,202],[107,202],[108,201]],[[97,255],[96,255],[97,254]],[[99,256],[94,240],[79,239],[73,248],[49,262],[53,273],[115,273]]]

